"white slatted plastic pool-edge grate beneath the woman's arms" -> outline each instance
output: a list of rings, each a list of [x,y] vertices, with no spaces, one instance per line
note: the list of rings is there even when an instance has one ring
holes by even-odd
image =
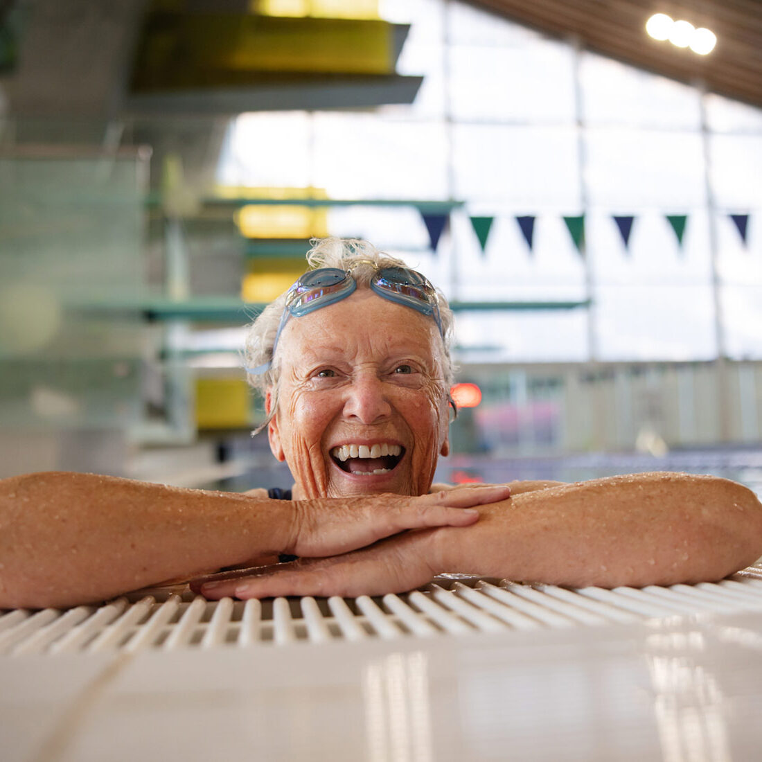
[[[762,562],[717,583],[559,588],[439,578],[407,594],[218,602],[156,588],[98,607],[0,612],[0,655],[435,638],[762,610]]]

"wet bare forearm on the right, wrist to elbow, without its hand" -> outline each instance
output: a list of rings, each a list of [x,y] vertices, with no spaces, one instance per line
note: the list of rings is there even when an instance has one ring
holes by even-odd
[[[645,473],[515,495],[434,533],[440,571],[574,587],[713,581],[762,555],[762,506],[712,476]],[[474,565],[475,564],[475,565]]]

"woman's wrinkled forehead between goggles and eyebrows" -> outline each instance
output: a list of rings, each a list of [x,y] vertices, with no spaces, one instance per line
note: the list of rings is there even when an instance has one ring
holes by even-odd
[[[340,302],[290,319],[283,328],[279,352],[289,365],[326,353],[365,361],[414,354],[438,373],[444,359],[434,319],[363,286]]]

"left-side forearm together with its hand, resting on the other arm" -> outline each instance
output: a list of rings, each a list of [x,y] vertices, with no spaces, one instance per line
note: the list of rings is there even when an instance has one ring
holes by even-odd
[[[0,607],[69,606],[262,555],[333,555],[406,529],[464,526],[505,488],[280,501],[94,474],[0,481]]]

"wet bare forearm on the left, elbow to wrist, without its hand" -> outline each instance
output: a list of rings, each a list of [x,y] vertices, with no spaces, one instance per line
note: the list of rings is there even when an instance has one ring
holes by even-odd
[[[0,607],[82,604],[245,562],[287,542],[287,509],[270,502],[94,474],[5,479]]]

